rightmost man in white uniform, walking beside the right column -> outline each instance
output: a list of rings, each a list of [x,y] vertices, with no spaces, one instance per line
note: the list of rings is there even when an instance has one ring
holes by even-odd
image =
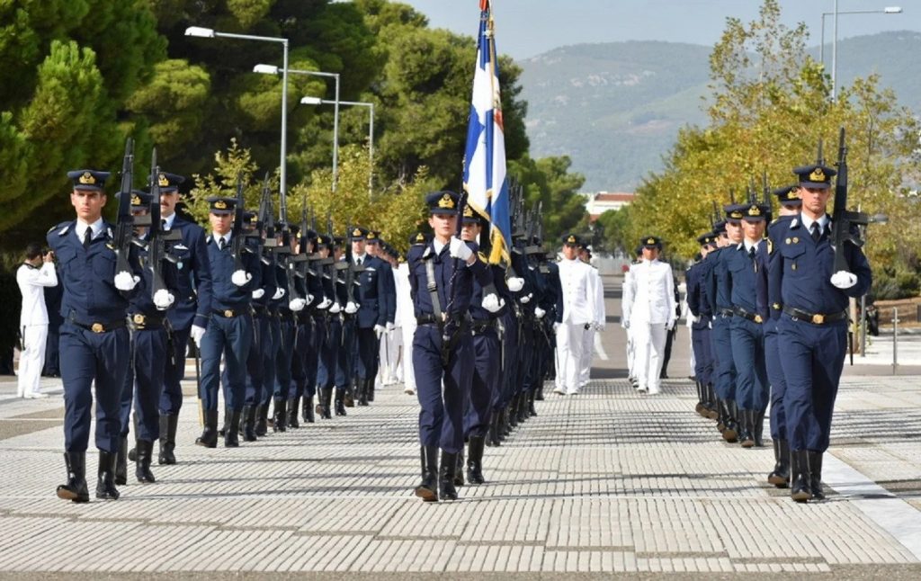
[[[637,390],[655,395],[661,390],[659,374],[665,335],[677,320],[674,276],[671,267],[659,261],[659,238],[644,237],[642,245],[643,261],[630,267],[630,283],[624,286],[623,320],[635,342]]]

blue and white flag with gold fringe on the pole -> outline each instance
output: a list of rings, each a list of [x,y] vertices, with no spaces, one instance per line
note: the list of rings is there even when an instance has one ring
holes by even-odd
[[[463,185],[467,203],[489,219],[490,263],[509,261],[511,225],[506,180],[506,139],[502,102],[499,99],[499,65],[495,53],[493,6],[480,2],[480,36],[473,74],[473,98],[467,147],[464,152]]]

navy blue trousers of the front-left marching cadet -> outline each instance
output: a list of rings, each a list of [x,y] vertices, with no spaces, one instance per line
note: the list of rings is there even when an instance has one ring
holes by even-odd
[[[124,377],[128,373],[129,334],[124,327],[104,333],[61,325],[61,378],[64,382],[64,449],[86,452],[89,444],[91,387],[96,380],[96,447],[117,452]]]

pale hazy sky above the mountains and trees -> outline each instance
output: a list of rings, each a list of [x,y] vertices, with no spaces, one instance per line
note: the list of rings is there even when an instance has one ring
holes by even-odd
[[[401,0],[429,18],[434,28],[474,36],[479,0]],[[780,0],[787,25],[810,27],[818,46],[822,13],[834,0]],[[675,41],[712,45],[726,17],[757,17],[761,0],[493,0],[499,52],[524,59],[566,44],[612,41]],[[839,15],[838,38],[882,30],[921,31],[921,0],[838,0],[839,12],[901,6],[902,14]],[[832,41],[833,17],[825,17],[825,42]]]

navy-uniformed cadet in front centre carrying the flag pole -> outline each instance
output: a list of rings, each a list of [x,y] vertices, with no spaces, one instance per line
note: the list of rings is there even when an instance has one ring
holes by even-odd
[[[413,338],[413,366],[422,407],[422,482],[416,486],[415,494],[426,501],[436,501],[439,496],[453,500],[457,498],[454,472],[463,446],[463,412],[473,370],[473,337],[468,321],[473,277],[486,273],[486,267],[477,260],[475,248],[453,236],[457,231],[458,195],[433,192],[426,196],[426,203],[435,238],[422,251],[414,247],[409,257],[409,281],[418,323]]]

